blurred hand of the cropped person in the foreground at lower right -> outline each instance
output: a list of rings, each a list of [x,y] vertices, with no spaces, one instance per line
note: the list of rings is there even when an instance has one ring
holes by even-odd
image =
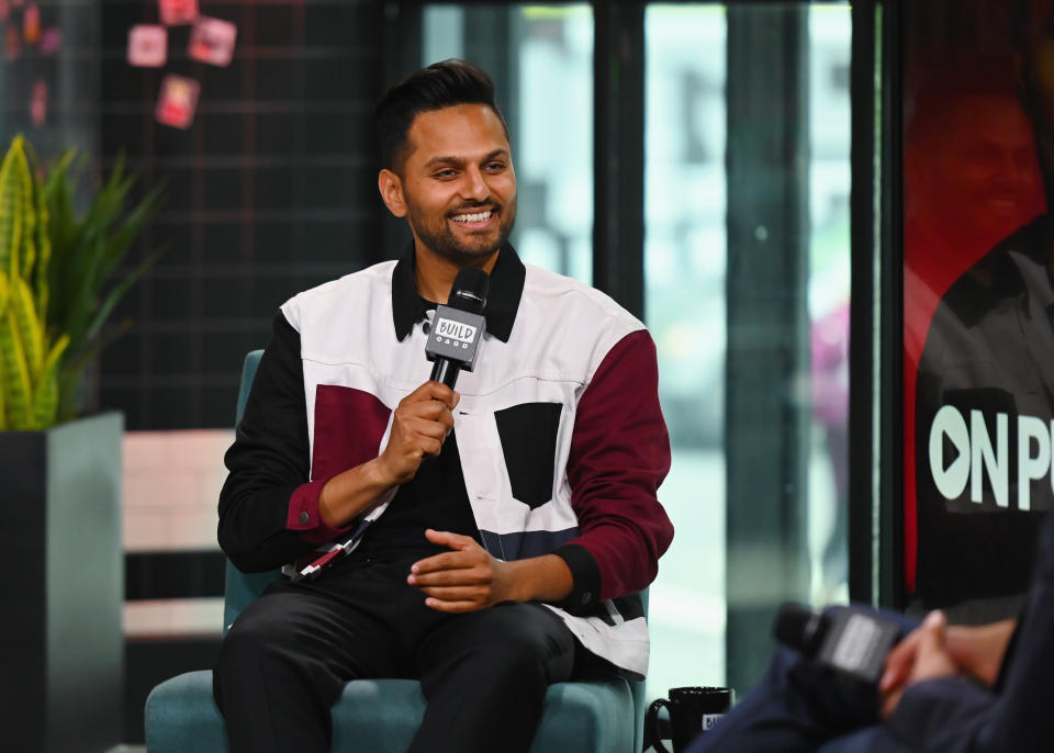
[[[896,711],[904,692],[923,679],[946,677],[958,672],[946,647],[948,619],[937,610],[900,641],[886,658],[886,672],[878,683],[882,716],[888,719]]]

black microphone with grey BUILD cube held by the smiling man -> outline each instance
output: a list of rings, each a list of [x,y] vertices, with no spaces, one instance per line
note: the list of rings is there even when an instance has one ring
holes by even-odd
[[[436,307],[425,356],[435,361],[431,378],[451,390],[461,370],[472,371],[486,329],[483,307],[490,278],[478,267],[462,267],[445,306]]]

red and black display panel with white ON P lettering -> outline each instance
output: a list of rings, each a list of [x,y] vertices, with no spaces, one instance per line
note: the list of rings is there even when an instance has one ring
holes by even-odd
[[[1013,611],[1054,501],[1054,0],[904,3],[905,574]]]

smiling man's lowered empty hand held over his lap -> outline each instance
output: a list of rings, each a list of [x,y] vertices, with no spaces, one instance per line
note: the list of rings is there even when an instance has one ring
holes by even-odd
[[[406,582],[425,593],[427,606],[438,611],[475,611],[512,598],[507,563],[491,557],[475,539],[430,528],[425,537],[451,550],[410,569]]]

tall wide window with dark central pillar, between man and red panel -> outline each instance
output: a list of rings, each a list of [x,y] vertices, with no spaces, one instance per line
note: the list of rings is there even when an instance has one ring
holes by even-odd
[[[740,643],[756,643],[748,648],[764,661],[776,604],[848,597],[850,12],[790,5],[647,10],[646,321],[673,445],[660,496],[677,531],[651,588],[649,696],[752,682],[727,671],[744,650],[728,640],[735,619],[753,623]],[[751,79],[749,55],[764,55],[751,34],[774,26],[783,40],[798,32],[797,46],[771,63],[778,69],[789,50],[799,86]],[[805,122],[782,133],[780,102],[785,112],[808,113]],[[770,111],[771,126],[749,117]],[[772,143],[804,159],[764,162],[759,154],[782,154],[765,151]],[[742,182],[730,165],[745,173]],[[794,222],[781,217],[795,213]],[[769,266],[798,273],[751,286],[753,276],[773,277],[761,269]],[[794,322],[775,315],[786,300]],[[766,348],[776,357],[764,360]],[[763,373],[743,373],[755,362]],[[752,396],[784,418],[751,412]],[[761,448],[748,461],[729,454],[748,443]],[[755,458],[764,462],[751,464]],[[763,481],[743,484],[744,475]],[[744,531],[731,513],[747,505],[740,495],[765,484],[784,498],[762,506]],[[788,558],[803,573],[794,583],[781,580]],[[749,574],[736,577],[733,569]]]

